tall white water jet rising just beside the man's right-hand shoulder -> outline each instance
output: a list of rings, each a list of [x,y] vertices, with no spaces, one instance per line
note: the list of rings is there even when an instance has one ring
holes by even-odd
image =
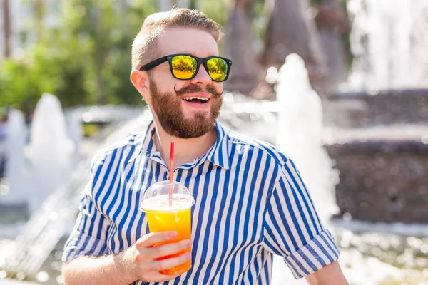
[[[334,193],[338,173],[322,147],[321,99],[312,90],[305,62],[297,54],[287,56],[279,76],[276,145],[295,162],[320,219],[327,224],[338,210]]]

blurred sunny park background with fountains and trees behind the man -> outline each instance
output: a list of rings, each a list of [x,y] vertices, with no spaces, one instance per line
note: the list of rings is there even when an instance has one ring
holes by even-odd
[[[173,6],[222,26],[219,120],[295,161],[350,284],[428,284],[427,0],[0,3],[0,284],[63,283],[91,157],[151,120],[131,43]]]

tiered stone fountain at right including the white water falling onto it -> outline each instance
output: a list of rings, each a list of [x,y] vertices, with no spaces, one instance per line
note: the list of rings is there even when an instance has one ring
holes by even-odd
[[[394,231],[395,222],[426,224],[428,1],[350,0],[347,8],[352,92],[323,102],[340,216]]]

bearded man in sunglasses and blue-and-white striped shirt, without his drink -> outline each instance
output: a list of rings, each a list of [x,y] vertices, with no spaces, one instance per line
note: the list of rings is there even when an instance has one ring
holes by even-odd
[[[231,61],[218,57],[218,25],[202,13],[152,14],[132,48],[131,81],[153,122],[93,159],[76,228],[66,243],[66,284],[269,284],[272,254],[309,284],[347,284],[292,161],[265,142],[215,121]],[[192,241],[155,246],[138,204],[154,182],[174,180],[195,197]],[[192,247],[192,254],[158,260]],[[163,275],[192,259],[180,276]]]

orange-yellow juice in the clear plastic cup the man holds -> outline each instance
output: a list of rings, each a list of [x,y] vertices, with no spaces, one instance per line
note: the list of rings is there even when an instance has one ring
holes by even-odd
[[[178,237],[175,239],[155,244],[160,246],[168,243],[180,242],[183,239],[191,239],[191,207],[193,205],[193,197],[185,194],[173,195],[173,204],[169,206],[168,195],[160,195],[151,197],[141,204],[141,208],[146,212],[148,228],[150,232],[167,232],[176,231]],[[183,252],[161,257],[158,260],[178,257],[185,252],[191,252],[190,247]],[[189,260],[185,264],[175,266],[174,268],[160,271],[161,274],[183,274],[192,268],[192,261]]]

